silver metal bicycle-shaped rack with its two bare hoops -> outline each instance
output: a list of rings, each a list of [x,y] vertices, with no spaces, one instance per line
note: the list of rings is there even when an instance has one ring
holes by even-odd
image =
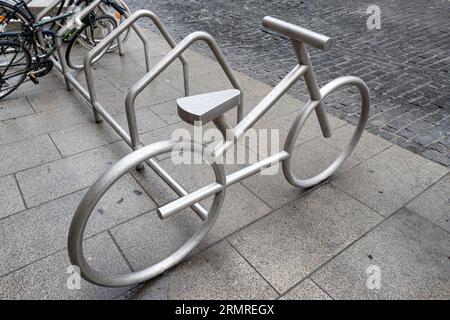
[[[251,175],[254,175],[261,170],[272,165],[282,163],[283,172],[286,179],[292,185],[299,188],[308,188],[314,186],[328,177],[330,177],[342,165],[345,159],[351,154],[357,145],[369,113],[370,96],[369,90],[365,83],[356,77],[345,76],[334,79],[328,84],[320,88],[317,84],[313,67],[309,58],[306,45],[313,46],[317,49],[328,50],[331,48],[332,41],[330,38],[304,29],[302,27],[278,20],[272,17],[265,17],[263,25],[273,31],[276,31],[291,39],[298,64],[282,79],[279,84],[260,102],[256,107],[243,117],[243,94],[242,88],[235,77],[233,71],[228,66],[223,54],[221,53],[217,43],[213,37],[205,32],[194,32],[184,38],[179,44],[175,45],[170,36],[165,32],[162,24],[156,15],[151,11],[141,10],[131,15],[127,21],[115,29],[107,38],[99,43],[85,58],[85,74],[89,86],[90,101],[94,110],[102,110],[101,105],[97,101],[95,88],[93,83],[92,68],[90,66],[92,60],[104,48],[110,45],[115,39],[118,39],[124,30],[132,26],[134,22],[142,17],[150,18],[163,33],[173,48],[164,58],[162,58],[153,68],[149,69],[147,64],[147,74],[143,76],[136,84],[134,84],[127,92],[125,99],[125,107],[127,112],[128,126],[130,135],[124,131],[119,130],[120,134],[126,142],[135,150],[129,155],[122,158],[109,170],[107,170],[89,189],[84,196],[78,209],[73,217],[69,235],[68,235],[68,250],[71,263],[79,266],[81,275],[88,281],[102,285],[102,286],[127,286],[137,284],[149,280],[167,269],[175,266],[183,261],[183,259],[192,252],[192,250],[200,243],[206,236],[208,231],[214,225],[220,210],[223,205],[225,190],[230,185],[241,181]],[[144,41],[144,40],[143,40]],[[197,191],[188,193],[184,187],[179,184],[173,177],[171,177],[158,163],[156,157],[163,153],[171,152],[177,147],[177,141],[161,141],[147,146],[142,145],[139,141],[139,135],[136,125],[136,115],[134,112],[134,101],[142,90],[151,84],[151,82],[158,77],[173,61],[176,59],[182,60],[182,53],[194,42],[206,42],[213,52],[214,56],[221,65],[223,71],[227,75],[234,89],[213,92],[209,94],[202,94],[197,96],[187,96],[177,100],[178,114],[187,123],[194,121],[201,121],[202,124],[213,122],[214,125],[223,134],[223,140],[215,153],[212,156],[210,165],[215,174],[215,182],[206,185]],[[145,43],[145,42],[144,42]],[[120,47],[120,46],[119,46]],[[183,62],[184,60],[182,60]],[[189,92],[189,84],[187,81],[187,66],[185,66],[185,90],[186,95]],[[251,128],[286,92],[296,83],[301,77],[304,78],[306,86],[310,94],[310,100],[306,103],[303,110],[298,114],[289,130],[286,138],[284,148],[281,152],[269,156],[268,158],[259,161],[258,163],[249,165],[243,169],[226,175],[222,164],[215,161],[223,155],[229,148],[231,148],[237,140],[244,135],[246,130]],[[297,139],[302,126],[309,115],[315,111],[320,123],[322,133],[325,137],[331,136],[330,126],[327,120],[327,114],[324,109],[323,100],[334,90],[343,86],[354,86],[358,89],[362,98],[362,109],[358,125],[356,126],[351,139],[348,141],[346,147],[339,154],[339,156],[329,165],[325,170],[308,179],[301,179],[292,171],[292,154],[294,149],[294,142]],[[237,107],[238,123],[232,128],[227,123],[224,113]],[[100,111],[103,115],[103,111]],[[232,137],[226,132],[233,133]],[[119,132],[118,131],[118,132]],[[195,152],[202,152],[203,146],[193,144]],[[142,168],[143,165],[148,165],[155,171],[161,179],[167,183],[178,195],[179,198],[171,201],[157,209],[157,214],[161,219],[165,219],[171,215],[176,214],[184,208],[190,207],[202,220],[201,225],[195,233],[172,254],[162,259],[161,261],[140,271],[129,274],[109,275],[94,269],[88,263],[84,255],[83,236],[88,220],[100,201],[103,195],[125,174],[129,173],[135,168]],[[205,209],[200,201],[208,197],[213,197],[212,204],[209,210]]]

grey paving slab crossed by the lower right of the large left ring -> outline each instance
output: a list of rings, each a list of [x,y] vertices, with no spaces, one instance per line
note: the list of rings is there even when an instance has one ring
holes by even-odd
[[[154,188],[157,187],[155,183]],[[205,208],[210,208],[210,201],[202,204]],[[227,188],[219,218],[195,251],[217,242],[269,212],[268,206],[241,185]],[[141,269],[173,253],[194,234],[200,224],[201,220],[190,209],[165,220],[161,220],[153,211],[114,228],[112,233],[133,268]],[[151,254],[143,254],[142,248],[147,248],[147,252]]]

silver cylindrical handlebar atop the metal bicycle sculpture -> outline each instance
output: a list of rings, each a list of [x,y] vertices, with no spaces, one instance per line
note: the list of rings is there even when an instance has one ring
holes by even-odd
[[[263,26],[272,31],[278,32],[291,39],[304,42],[314,48],[324,51],[329,50],[333,45],[333,40],[323,34],[302,28],[295,24],[266,16],[263,19]]]

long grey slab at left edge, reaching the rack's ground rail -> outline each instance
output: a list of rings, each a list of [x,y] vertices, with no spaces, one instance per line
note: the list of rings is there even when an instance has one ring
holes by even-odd
[[[0,122],[0,145],[10,144],[30,137],[92,120],[92,110],[83,105],[53,109]]]

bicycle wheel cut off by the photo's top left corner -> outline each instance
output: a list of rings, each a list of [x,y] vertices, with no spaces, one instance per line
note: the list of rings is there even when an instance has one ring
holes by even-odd
[[[15,3],[0,1],[0,38],[1,33],[22,31],[29,21],[33,21],[24,10],[17,10]]]

